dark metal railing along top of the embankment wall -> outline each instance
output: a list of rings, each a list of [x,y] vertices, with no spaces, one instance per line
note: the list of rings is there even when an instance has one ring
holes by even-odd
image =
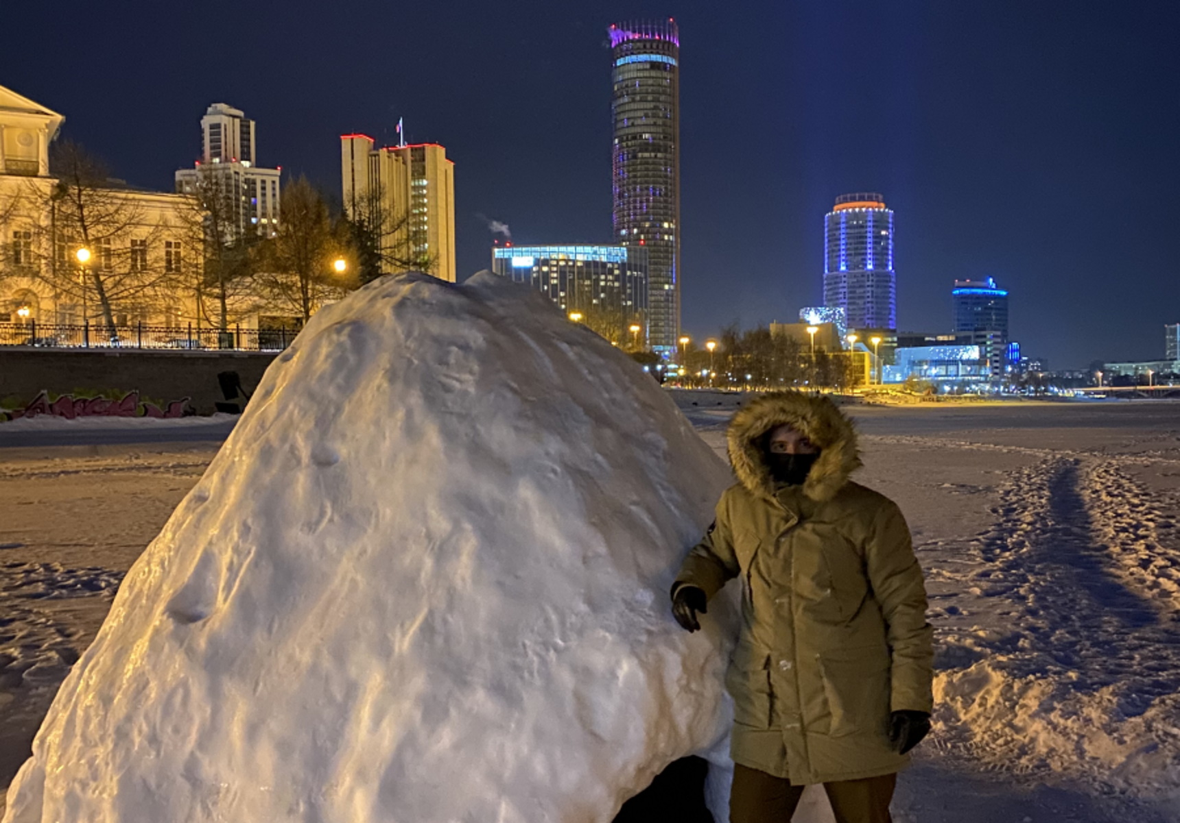
[[[33,345],[55,349],[171,349],[282,351],[293,340],[295,329],[222,330],[209,327],[148,325],[144,323],[0,323],[0,347]]]

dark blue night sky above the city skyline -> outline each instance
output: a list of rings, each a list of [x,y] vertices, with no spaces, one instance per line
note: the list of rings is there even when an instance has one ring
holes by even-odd
[[[610,242],[616,20],[681,28],[686,331],[821,303],[822,217],[896,212],[898,323],[995,277],[1051,368],[1163,356],[1180,321],[1180,2],[6,4],[0,85],[117,177],[170,190],[224,101],[258,159],[339,196],[339,136],[446,146],[460,277],[517,243]]]

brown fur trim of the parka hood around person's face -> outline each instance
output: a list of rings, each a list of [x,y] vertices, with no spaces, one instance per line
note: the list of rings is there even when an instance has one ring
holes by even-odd
[[[831,500],[860,468],[856,428],[835,403],[800,391],[774,391],[739,410],[726,433],[729,463],[752,494],[774,498],[761,440],[779,426],[791,426],[820,450],[804,483],[804,494],[812,500]]]

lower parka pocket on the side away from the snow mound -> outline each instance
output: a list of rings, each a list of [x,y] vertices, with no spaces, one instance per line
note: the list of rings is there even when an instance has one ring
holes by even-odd
[[[841,650],[820,658],[830,735],[886,733],[890,706],[889,654],[878,646]]]

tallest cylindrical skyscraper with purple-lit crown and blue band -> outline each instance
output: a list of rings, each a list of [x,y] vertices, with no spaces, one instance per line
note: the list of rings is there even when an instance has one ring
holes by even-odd
[[[610,27],[615,241],[648,250],[648,340],[680,337],[680,33],[669,18]]]

